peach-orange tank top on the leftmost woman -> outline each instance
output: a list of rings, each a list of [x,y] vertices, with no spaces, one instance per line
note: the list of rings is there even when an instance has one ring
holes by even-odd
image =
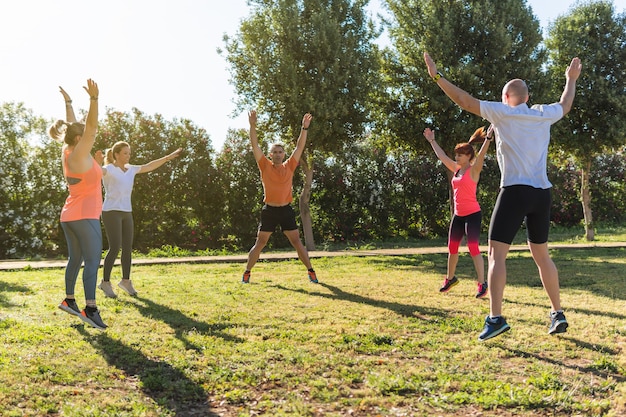
[[[63,210],[61,210],[61,221],[71,222],[75,220],[100,219],[102,214],[102,168],[95,159],[91,168],[77,174],[71,172],[67,158],[70,154],[65,150],[63,158],[63,175],[67,181],[67,188],[70,195],[65,200]]]

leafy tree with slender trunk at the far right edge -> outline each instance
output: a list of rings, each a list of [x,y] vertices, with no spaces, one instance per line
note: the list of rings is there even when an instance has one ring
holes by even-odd
[[[626,14],[616,16],[608,1],[580,3],[549,27],[546,46],[555,94],[570,60],[578,56],[583,63],[574,108],[552,136],[580,167],[585,236],[593,240],[592,163],[626,143]]]

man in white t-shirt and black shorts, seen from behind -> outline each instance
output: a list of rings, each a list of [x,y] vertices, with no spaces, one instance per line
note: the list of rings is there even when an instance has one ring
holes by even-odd
[[[572,59],[567,67],[558,103],[530,108],[526,104],[528,87],[520,79],[506,83],[501,103],[482,101],[446,80],[427,52],[424,61],[428,74],[443,92],[463,110],[491,122],[496,134],[501,188],[489,224],[490,313],[478,339],[484,341],[510,329],[502,317],[506,257],[524,220],[528,246],[552,306],[548,333],[564,333],[568,324],[561,310],[559,273],[548,252],[552,184],[547,176],[547,154],[550,126],[572,108],[576,80],[582,69],[580,59]]]

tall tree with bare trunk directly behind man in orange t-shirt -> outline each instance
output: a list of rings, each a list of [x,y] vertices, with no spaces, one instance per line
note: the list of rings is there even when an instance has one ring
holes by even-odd
[[[260,139],[293,142],[302,115],[314,116],[300,166],[300,215],[306,246],[315,249],[309,208],[314,155],[340,150],[362,135],[376,86],[377,36],[364,14],[368,0],[251,0],[250,17],[225,36],[238,108],[257,108]]]

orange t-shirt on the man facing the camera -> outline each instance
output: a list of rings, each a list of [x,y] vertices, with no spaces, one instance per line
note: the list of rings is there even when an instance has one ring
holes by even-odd
[[[287,159],[279,166],[263,157],[257,165],[261,171],[263,183],[263,202],[275,206],[286,206],[293,201],[293,173],[298,167],[298,161]]]

